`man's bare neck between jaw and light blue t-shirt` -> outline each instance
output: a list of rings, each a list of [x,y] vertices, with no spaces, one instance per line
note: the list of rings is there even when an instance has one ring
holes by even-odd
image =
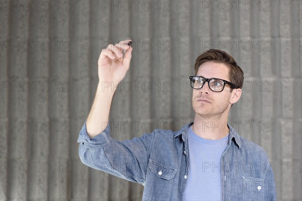
[[[228,117],[202,117],[195,115],[193,132],[208,140],[218,140],[229,134]]]

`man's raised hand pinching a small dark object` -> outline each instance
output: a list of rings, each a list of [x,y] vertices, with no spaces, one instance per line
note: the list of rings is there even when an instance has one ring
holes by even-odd
[[[107,81],[110,84],[118,85],[125,77],[130,66],[132,47],[127,45],[131,40],[120,41],[112,45],[109,44],[103,49],[98,61],[99,82]],[[123,58],[123,50],[125,55]]]

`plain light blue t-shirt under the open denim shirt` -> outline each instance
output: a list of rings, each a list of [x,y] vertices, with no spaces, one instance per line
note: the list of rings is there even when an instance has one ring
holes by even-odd
[[[207,140],[188,129],[189,172],[184,200],[221,200],[220,158],[229,135]]]

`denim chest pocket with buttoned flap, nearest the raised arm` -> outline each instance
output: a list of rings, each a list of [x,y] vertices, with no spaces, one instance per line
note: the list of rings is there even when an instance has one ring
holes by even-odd
[[[171,199],[176,168],[149,159],[143,200]]]

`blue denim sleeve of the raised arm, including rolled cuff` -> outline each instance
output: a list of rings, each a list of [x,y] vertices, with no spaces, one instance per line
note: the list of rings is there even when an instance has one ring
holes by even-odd
[[[78,138],[79,154],[81,161],[89,167],[143,184],[153,138],[154,133],[146,133],[140,138],[121,142],[110,137],[110,124],[90,138],[85,121]]]

